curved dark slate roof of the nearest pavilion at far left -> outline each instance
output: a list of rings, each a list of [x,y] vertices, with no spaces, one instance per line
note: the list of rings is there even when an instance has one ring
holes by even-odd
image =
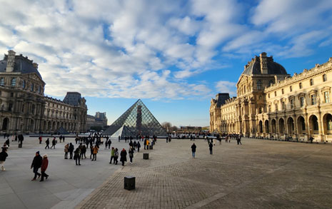
[[[7,67],[7,58],[8,56],[5,54],[4,59],[0,61],[0,73],[6,72]],[[39,78],[41,78],[41,74],[38,69],[34,67],[33,61],[29,60],[28,57],[24,57],[21,54],[15,56],[15,64],[14,64],[14,73],[36,73]],[[41,78],[43,80],[43,78]]]

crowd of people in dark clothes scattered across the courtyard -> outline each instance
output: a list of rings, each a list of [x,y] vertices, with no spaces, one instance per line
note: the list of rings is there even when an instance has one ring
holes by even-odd
[[[20,139],[19,139],[20,138]],[[111,147],[111,139],[108,136],[101,136],[99,134],[94,134],[90,136],[84,136],[84,137],[79,137],[76,136],[75,138],[75,143],[78,144],[76,148],[74,147],[74,143],[65,143],[64,145],[64,159],[73,159],[75,160],[76,165],[81,165],[81,160],[86,159],[86,150],[90,148],[90,159],[91,161],[96,161],[97,159],[97,153],[99,153],[99,148],[100,146],[104,143],[103,138],[106,139],[105,141],[105,150],[111,149],[111,156],[109,163],[110,164],[118,164],[118,158],[120,156],[120,161],[121,165],[125,165],[127,161],[127,156],[129,156],[129,162],[132,164],[133,163],[133,158],[134,158],[134,152],[137,151],[139,152],[139,149],[141,148],[141,143],[140,141],[144,142],[144,150],[149,150],[151,146],[154,146],[156,144],[157,138],[156,136],[149,137],[149,136],[136,136],[136,140],[134,140],[133,137],[124,137],[125,143],[129,143],[129,149],[126,151],[125,148],[122,148],[122,150],[119,153],[118,148]],[[189,134],[188,138],[191,139],[191,141],[195,141],[196,135]],[[217,135],[214,138],[208,138],[206,136],[205,140],[208,141],[208,150],[210,154],[213,154],[213,146],[216,146],[216,141],[219,141],[221,144],[221,139],[224,139],[226,143],[230,143],[231,139],[236,139],[238,144],[241,144],[241,135],[238,134],[221,134]],[[17,140],[19,140],[19,143],[22,143],[23,141],[23,136],[17,136]],[[15,137],[13,138],[13,141],[17,141]],[[43,138],[42,136],[39,136],[39,143],[42,143]],[[59,141],[65,142],[65,137],[64,136],[59,136]],[[171,142],[171,134],[166,137],[166,143]],[[53,136],[53,139],[51,141],[52,146],[49,147],[50,140],[49,138],[46,139],[46,148],[56,148],[57,140],[56,136]],[[4,162],[6,161],[6,158],[8,157],[7,150],[9,148],[9,138],[7,138],[6,142],[4,143],[4,146],[2,146],[2,151],[0,153],[0,165],[1,165],[1,170],[5,170],[4,168]],[[191,145],[191,152],[192,152],[192,157],[196,157],[196,144],[193,143]],[[31,169],[33,168],[34,172],[34,178],[31,180],[36,180],[37,178],[41,178],[40,181],[44,181],[44,178],[47,179],[49,178],[49,175],[46,174],[46,169],[48,168],[49,165],[49,159],[47,154],[44,154],[44,156],[40,156],[39,151],[36,152],[36,155],[34,156],[34,159],[31,163]],[[41,168],[41,173],[39,173],[39,168]]]

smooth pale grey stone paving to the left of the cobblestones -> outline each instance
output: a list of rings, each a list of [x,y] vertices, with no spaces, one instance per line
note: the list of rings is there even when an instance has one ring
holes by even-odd
[[[39,144],[38,138],[24,137],[23,148],[18,148],[18,142],[10,142],[9,157],[6,159],[5,171],[0,170],[0,208],[74,208],[84,200],[95,188],[104,183],[120,165],[110,165],[110,150],[101,146],[96,161],[89,159],[90,150],[86,159],[81,160],[81,166],[76,166],[74,160],[64,159],[65,143],[56,144],[56,149],[44,149],[43,143]],[[0,138],[0,144],[5,139]],[[74,138],[66,138],[66,143],[74,143]],[[112,141],[111,146],[127,148],[128,145],[121,141]],[[36,151],[41,156],[49,156],[49,168],[46,173],[48,180],[39,182],[31,181],[34,173],[30,169]],[[40,170],[39,170],[40,173]]]

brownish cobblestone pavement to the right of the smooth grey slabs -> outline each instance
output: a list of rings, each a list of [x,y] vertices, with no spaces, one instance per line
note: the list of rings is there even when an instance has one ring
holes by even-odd
[[[159,140],[76,208],[332,208],[332,145],[244,138],[242,146]],[[143,153],[149,160],[143,160]],[[136,189],[124,190],[124,177]]]

